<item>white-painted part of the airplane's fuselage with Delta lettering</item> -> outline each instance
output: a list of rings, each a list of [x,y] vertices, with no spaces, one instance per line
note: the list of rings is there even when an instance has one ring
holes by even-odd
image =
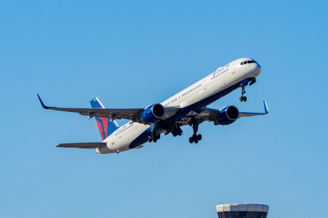
[[[236,83],[240,83],[244,79],[257,77],[261,72],[261,67],[258,63],[240,64],[248,60],[252,59],[240,58],[228,63],[226,66],[218,68],[215,72],[198,80],[188,88],[161,102],[161,104],[163,106],[179,106],[179,108],[187,107],[203,99],[210,98],[216,93],[224,91]],[[119,127],[107,137],[103,141],[107,143],[107,146],[96,149],[96,152],[99,154],[108,154],[129,150],[131,142],[150,128],[150,125],[136,122],[129,123]],[[142,147],[141,143],[135,148],[140,147]]]

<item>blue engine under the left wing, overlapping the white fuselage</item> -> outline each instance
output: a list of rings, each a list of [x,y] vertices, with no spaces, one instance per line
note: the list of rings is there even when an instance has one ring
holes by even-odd
[[[156,123],[165,115],[165,108],[161,104],[152,104],[145,108],[141,114],[141,121],[144,123]]]

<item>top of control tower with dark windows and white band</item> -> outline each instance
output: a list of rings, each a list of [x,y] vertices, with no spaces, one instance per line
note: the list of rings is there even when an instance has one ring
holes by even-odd
[[[269,206],[264,204],[219,204],[216,205],[219,218],[267,218]]]

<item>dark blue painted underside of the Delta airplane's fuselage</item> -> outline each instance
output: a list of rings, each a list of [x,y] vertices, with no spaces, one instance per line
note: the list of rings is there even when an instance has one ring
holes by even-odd
[[[248,81],[252,80],[253,78],[249,78]],[[196,113],[200,113],[204,110],[204,108],[213,103],[214,101],[222,98],[225,95],[228,95],[229,93],[231,93],[232,91],[238,89],[240,86],[240,82],[230,86],[229,88],[222,90],[221,92],[218,92],[210,97],[204,98],[194,104],[191,104],[189,106],[180,108],[180,110],[172,117],[170,117],[169,119],[163,121],[161,123],[160,126],[156,125],[156,128],[161,128],[161,126],[163,125],[170,125],[170,124],[174,124],[175,122],[181,120],[183,117],[185,117],[187,114],[189,114],[191,111],[194,111]],[[135,140],[133,140],[131,142],[131,144],[129,145],[129,148],[134,148],[137,147],[141,144],[144,144],[147,142],[147,137],[151,134],[151,127],[149,127],[148,129],[145,130],[145,132],[141,133],[140,136],[138,136]]]

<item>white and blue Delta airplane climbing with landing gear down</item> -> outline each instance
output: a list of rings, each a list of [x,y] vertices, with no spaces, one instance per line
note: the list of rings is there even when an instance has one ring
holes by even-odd
[[[95,118],[102,142],[65,143],[56,147],[93,148],[98,154],[111,154],[138,149],[146,142],[157,142],[160,134],[181,136],[181,126],[193,128],[190,143],[198,143],[202,136],[197,134],[202,122],[214,125],[229,125],[238,118],[266,115],[267,103],[263,100],[264,113],[240,112],[236,106],[220,109],[207,107],[214,101],[240,88],[239,101],[247,101],[245,86],[253,85],[261,72],[261,66],[252,58],[239,58],[226,66],[216,69],[210,75],[198,80],[161,103],[140,108],[105,108],[98,98],[90,101],[91,108],[67,108],[47,106],[37,97],[43,108],[54,111],[74,112]],[[130,120],[119,126],[117,119]]]

